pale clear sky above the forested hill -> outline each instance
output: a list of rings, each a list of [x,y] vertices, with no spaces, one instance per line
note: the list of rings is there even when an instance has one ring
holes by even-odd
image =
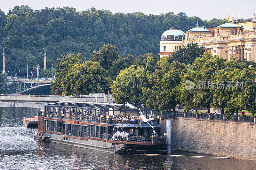
[[[0,0],[0,8],[8,13],[9,8],[16,5],[29,5],[33,10],[41,10],[45,7],[69,6],[83,11],[91,7],[109,10],[112,13],[144,12],[145,14],[161,14],[167,12],[186,12],[187,16],[199,16],[201,19],[252,18],[255,0]]]

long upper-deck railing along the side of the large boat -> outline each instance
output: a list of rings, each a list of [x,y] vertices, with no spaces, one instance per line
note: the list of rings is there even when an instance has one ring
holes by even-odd
[[[108,123],[108,124],[148,124],[147,122],[143,122],[139,118],[108,118],[108,117],[100,117],[100,116],[87,116],[81,114],[62,114],[62,113],[44,113],[44,117],[54,118],[54,119],[69,119],[74,121],[88,121],[88,122],[100,122],[100,123]],[[160,124],[159,118],[149,118],[150,124]]]

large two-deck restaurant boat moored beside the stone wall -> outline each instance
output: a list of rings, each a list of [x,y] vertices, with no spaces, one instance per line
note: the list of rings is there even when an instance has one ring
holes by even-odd
[[[160,119],[142,112],[147,110],[128,103],[45,104],[35,139],[112,153],[163,154],[166,137],[160,136]]]

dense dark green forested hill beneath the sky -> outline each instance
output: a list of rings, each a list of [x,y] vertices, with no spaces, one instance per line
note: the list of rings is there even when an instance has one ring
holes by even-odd
[[[201,20],[199,26],[216,27],[226,22],[214,18]],[[47,50],[47,69],[51,69],[61,55],[81,53],[89,60],[94,50],[103,44],[118,47],[120,55],[130,53],[135,57],[144,53],[158,56],[160,36],[176,26],[187,31],[196,26],[197,17],[188,17],[185,12],[176,15],[146,15],[142,12],[116,13],[90,8],[76,11],[72,7],[33,10],[28,5],[15,6],[5,14],[0,9],[0,48],[5,49],[5,70],[26,72],[27,63],[44,65],[44,50]],[[2,65],[2,59],[1,65]]]

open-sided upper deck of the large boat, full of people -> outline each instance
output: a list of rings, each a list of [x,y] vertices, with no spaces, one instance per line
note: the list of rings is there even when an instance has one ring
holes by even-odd
[[[58,102],[44,106],[44,118],[105,123],[110,126],[160,126],[159,116],[148,116],[148,122],[140,119],[146,109],[130,104],[109,104],[97,102]]]

